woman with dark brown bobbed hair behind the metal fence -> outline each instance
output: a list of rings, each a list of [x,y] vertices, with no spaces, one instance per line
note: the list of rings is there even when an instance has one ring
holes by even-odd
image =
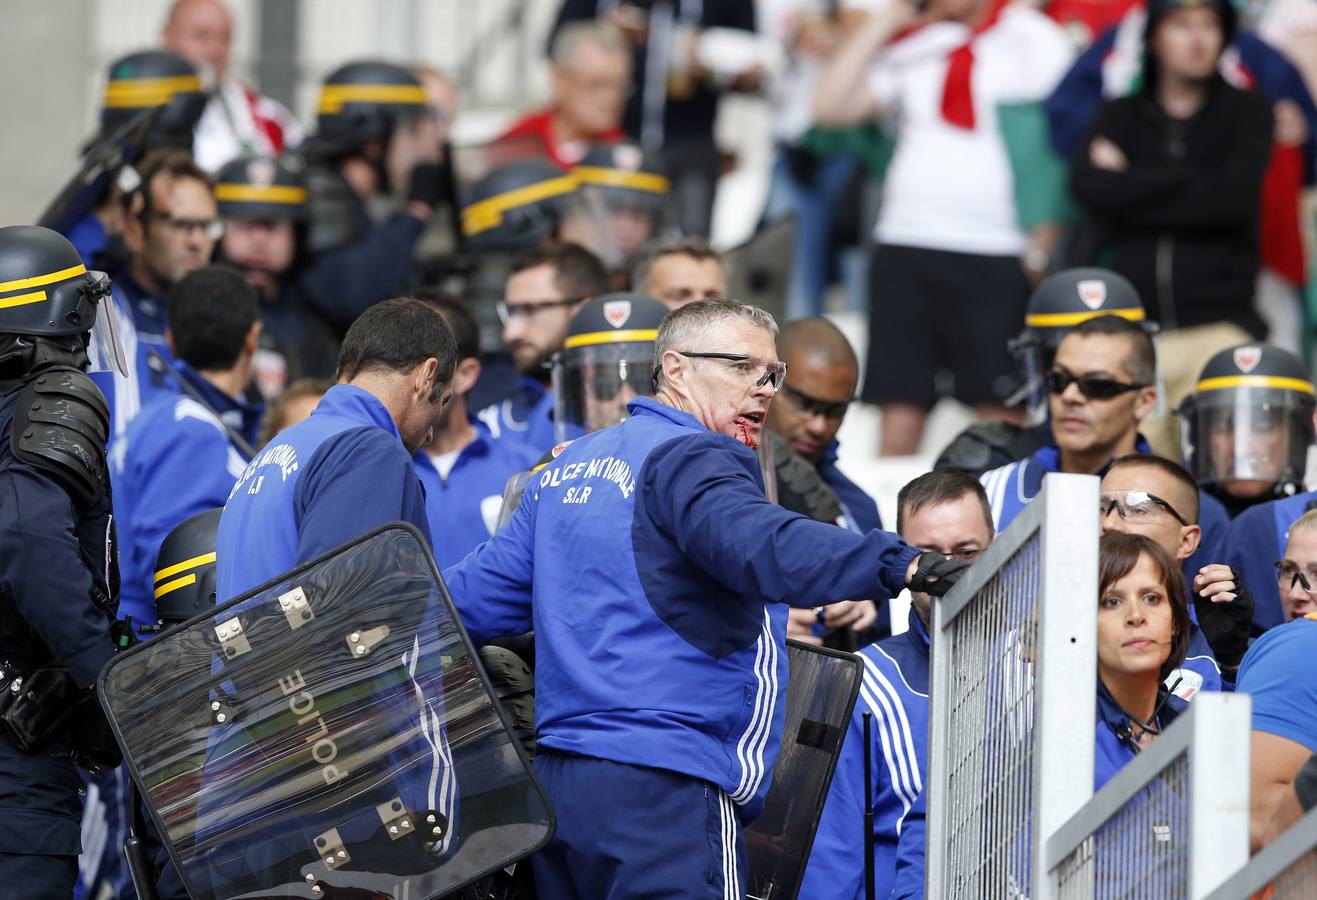
[[[1102,535],[1097,593],[1097,758],[1100,789],[1184,712],[1163,684],[1189,646],[1184,576],[1143,535]]]

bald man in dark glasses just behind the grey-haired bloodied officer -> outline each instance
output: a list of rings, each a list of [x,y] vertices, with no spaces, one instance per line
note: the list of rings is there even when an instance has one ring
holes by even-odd
[[[827,319],[797,319],[782,327],[777,353],[786,383],[768,407],[768,427],[819,470],[842,501],[847,527],[881,528],[877,503],[836,465],[836,432],[860,374],[851,343]]]

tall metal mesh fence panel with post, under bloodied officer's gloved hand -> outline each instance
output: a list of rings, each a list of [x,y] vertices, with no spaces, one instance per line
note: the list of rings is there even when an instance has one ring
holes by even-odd
[[[934,605],[927,896],[1046,897],[1092,796],[1098,481],[1051,474]]]

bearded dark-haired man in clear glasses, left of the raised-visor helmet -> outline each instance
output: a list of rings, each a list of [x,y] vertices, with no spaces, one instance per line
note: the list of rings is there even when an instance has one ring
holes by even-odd
[[[608,270],[576,244],[547,244],[512,264],[499,318],[503,343],[522,373],[511,397],[475,414],[495,440],[518,440],[544,453],[554,444],[549,360],[586,300],[608,290]]]

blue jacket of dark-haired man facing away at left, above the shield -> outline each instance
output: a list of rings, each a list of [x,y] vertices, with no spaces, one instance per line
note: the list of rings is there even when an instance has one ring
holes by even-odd
[[[186,362],[176,369],[205,403],[182,391],[161,397],[109,451],[119,519],[119,614],[132,615],[138,627],[155,623],[153,576],[161,543],[183,519],[224,506],[250,463],[224,426],[252,445],[261,426],[259,406],[233,399]]]

